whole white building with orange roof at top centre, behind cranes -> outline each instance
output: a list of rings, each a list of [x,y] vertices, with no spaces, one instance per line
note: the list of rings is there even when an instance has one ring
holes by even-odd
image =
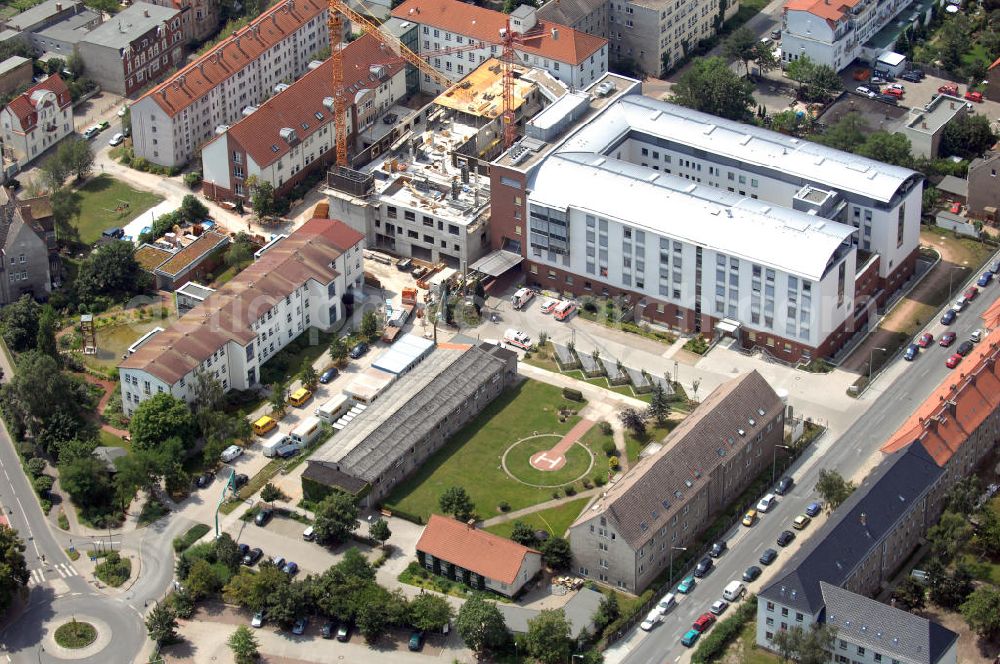
[[[508,26],[517,35],[514,52],[519,64],[544,69],[570,89],[587,87],[608,70],[607,40],[539,20],[530,5],[521,5],[508,16],[461,0],[406,0],[392,15],[408,26],[400,38],[413,43],[413,50],[453,80],[488,58],[500,57],[500,34]],[[442,91],[426,74],[421,75],[420,87],[435,94]]]

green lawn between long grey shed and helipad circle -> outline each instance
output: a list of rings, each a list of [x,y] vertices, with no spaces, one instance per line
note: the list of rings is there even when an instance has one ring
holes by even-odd
[[[559,388],[537,381],[511,387],[397,486],[386,507],[427,519],[439,511],[438,497],[451,486],[464,487],[484,519],[499,514],[497,506],[502,501],[517,510],[551,500],[552,489],[511,479],[500,467],[500,459],[511,444],[535,432],[565,434],[579,417],[560,422],[558,411],[579,411],[585,405],[567,401]]]

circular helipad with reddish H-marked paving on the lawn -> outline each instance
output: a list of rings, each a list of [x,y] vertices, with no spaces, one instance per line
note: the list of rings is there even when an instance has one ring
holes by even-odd
[[[581,480],[594,467],[594,455],[579,442],[566,445],[566,437],[541,433],[510,445],[501,459],[511,479],[540,489],[557,489]]]

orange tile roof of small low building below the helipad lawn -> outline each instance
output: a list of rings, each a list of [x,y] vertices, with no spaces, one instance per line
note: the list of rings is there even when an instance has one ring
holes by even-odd
[[[506,537],[438,514],[432,514],[427,521],[427,527],[417,541],[417,551],[507,584],[517,581],[525,556],[532,553],[541,555]]]

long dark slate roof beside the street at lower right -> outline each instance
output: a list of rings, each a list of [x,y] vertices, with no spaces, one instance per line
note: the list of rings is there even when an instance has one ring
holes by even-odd
[[[785,569],[790,571],[759,596],[817,615],[823,608],[820,582],[843,585],[903,512],[943,473],[922,445],[910,445],[887,457],[789,559]]]

